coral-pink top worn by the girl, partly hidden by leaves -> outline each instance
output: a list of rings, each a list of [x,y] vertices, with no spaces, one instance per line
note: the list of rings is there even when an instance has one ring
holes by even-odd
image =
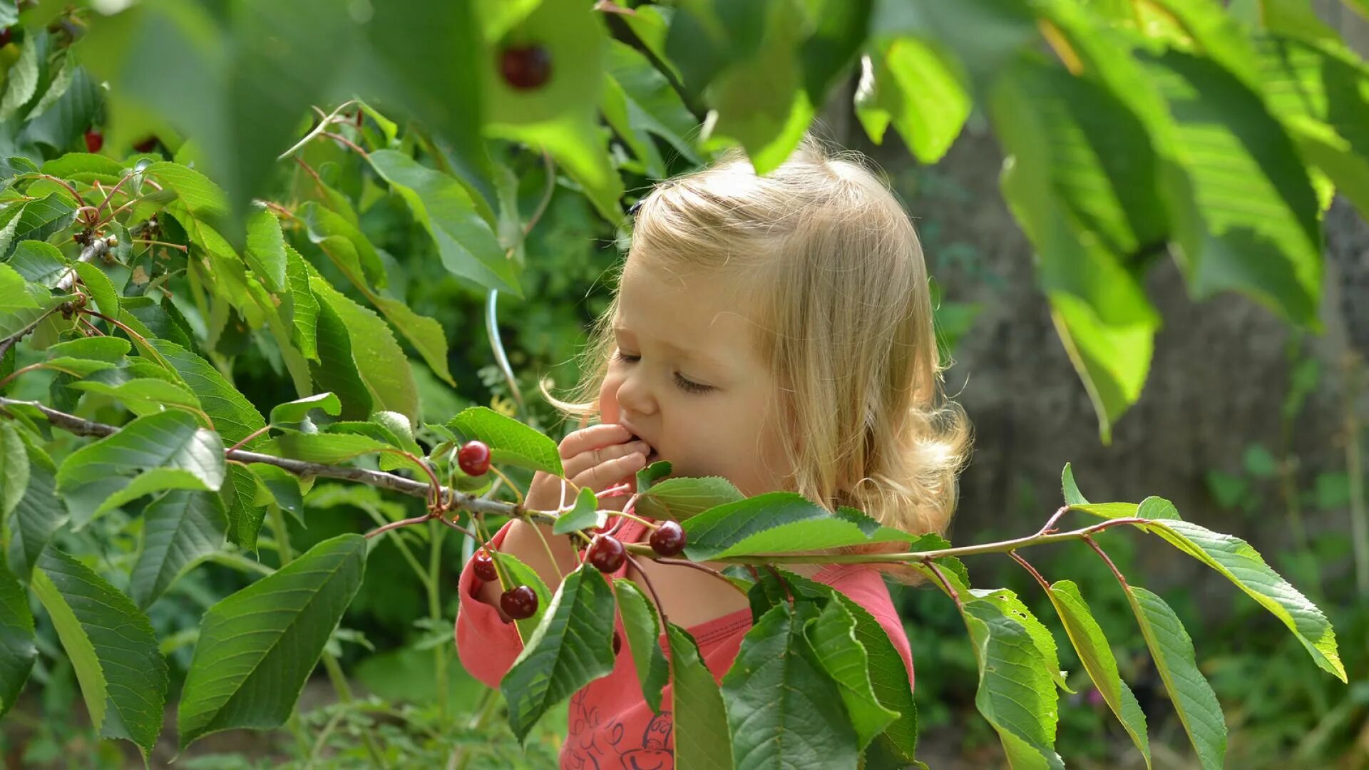
[[[642,537],[642,525],[628,521],[619,530],[624,543]],[[508,525],[493,538],[498,548],[504,543]],[[612,577],[623,577],[622,567]],[[879,621],[890,641],[904,658],[908,682],[913,682],[913,658],[904,633],[904,623],[894,610],[888,588],[879,570],[860,564],[827,564],[815,577],[849,596]],[[513,623],[500,619],[498,611],[471,596],[479,588],[479,578],[467,562],[460,580],[460,610],[456,617],[456,648],[465,670],[491,688],[508,673],[523,644]],[[752,628],[750,610],[738,610],[689,628],[698,643],[704,665],[719,682],[732,666],[742,637]],[[627,640],[619,622],[617,633]],[[665,645],[665,636],[661,636]],[[642,686],[627,644],[622,645],[613,673],[594,680],[571,696],[565,743],[561,745],[561,767],[580,770],[671,770],[675,767],[675,741],[671,721],[671,686],[661,697],[661,712],[654,714],[642,697]]]

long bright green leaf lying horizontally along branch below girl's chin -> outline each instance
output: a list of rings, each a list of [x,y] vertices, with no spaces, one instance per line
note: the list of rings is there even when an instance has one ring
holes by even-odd
[[[913,538],[852,508],[828,512],[794,492],[768,492],[717,506],[683,526],[689,536],[684,554],[694,562]]]

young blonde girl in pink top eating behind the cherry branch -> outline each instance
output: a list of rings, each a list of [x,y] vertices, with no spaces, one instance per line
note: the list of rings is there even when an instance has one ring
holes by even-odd
[[[593,374],[579,397],[553,399],[600,421],[560,444],[576,488],[632,481],[661,459],[674,475],[726,477],[745,495],[794,490],[917,534],[943,532],[950,521],[969,427],[941,397],[927,267],[912,222],[858,156],[828,153],[809,137],[765,177],[731,152],[657,186],[638,207],[617,292],[589,355]],[[560,500],[560,480],[538,474],[527,507],[554,510]],[[620,510],[623,500],[601,504]],[[545,527],[553,566],[531,526],[509,522],[493,545],[554,591],[576,554]],[[627,521],[617,537],[648,534]],[[639,562],[671,622],[694,636],[721,680],[752,625],[746,599],[708,573]],[[794,567],[878,618],[912,684],[908,637],[878,569]],[[624,575],[641,582],[630,564],[612,577]],[[490,686],[522,649],[498,596],[500,585],[482,584],[468,563],[456,644],[465,669]],[[622,622],[617,633],[626,638]],[[620,649],[613,673],[571,699],[561,766],[672,767],[669,695],[667,688],[663,712],[653,714],[631,652]]]

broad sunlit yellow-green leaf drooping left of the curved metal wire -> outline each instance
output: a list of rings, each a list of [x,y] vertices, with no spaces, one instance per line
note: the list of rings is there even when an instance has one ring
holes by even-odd
[[[352,345],[355,370],[360,374],[361,381],[366,382],[366,388],[374,399],[374,406],[397,411],[409,418],[411,422],[416,421],[419,415],[419,393],[418,386],[413,384],[413,370],[409,367],[409,359],[404,355],[404,349],[394,340],[390,327],[378,315],[356,304],[322,278],[311,277],[309,288],[314,289],[320,303],[327,304],[337,314],[346,330]],[[348,401],[344,390],[323,382],[319,385],[342,396],[342,403],[346,406]],[[368,415],[371,411],[367,410],[366,414]]]

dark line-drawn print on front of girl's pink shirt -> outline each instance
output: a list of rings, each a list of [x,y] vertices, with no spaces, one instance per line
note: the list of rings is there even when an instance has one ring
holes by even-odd
[[[602,723],[598,707],[585,707],[586,689],[571,696],[571,729],[561,749],[563,765],[572,770],[668,770],[675,766],[669,711],[652,717],[641,734],[627,734],[623,723]]]

